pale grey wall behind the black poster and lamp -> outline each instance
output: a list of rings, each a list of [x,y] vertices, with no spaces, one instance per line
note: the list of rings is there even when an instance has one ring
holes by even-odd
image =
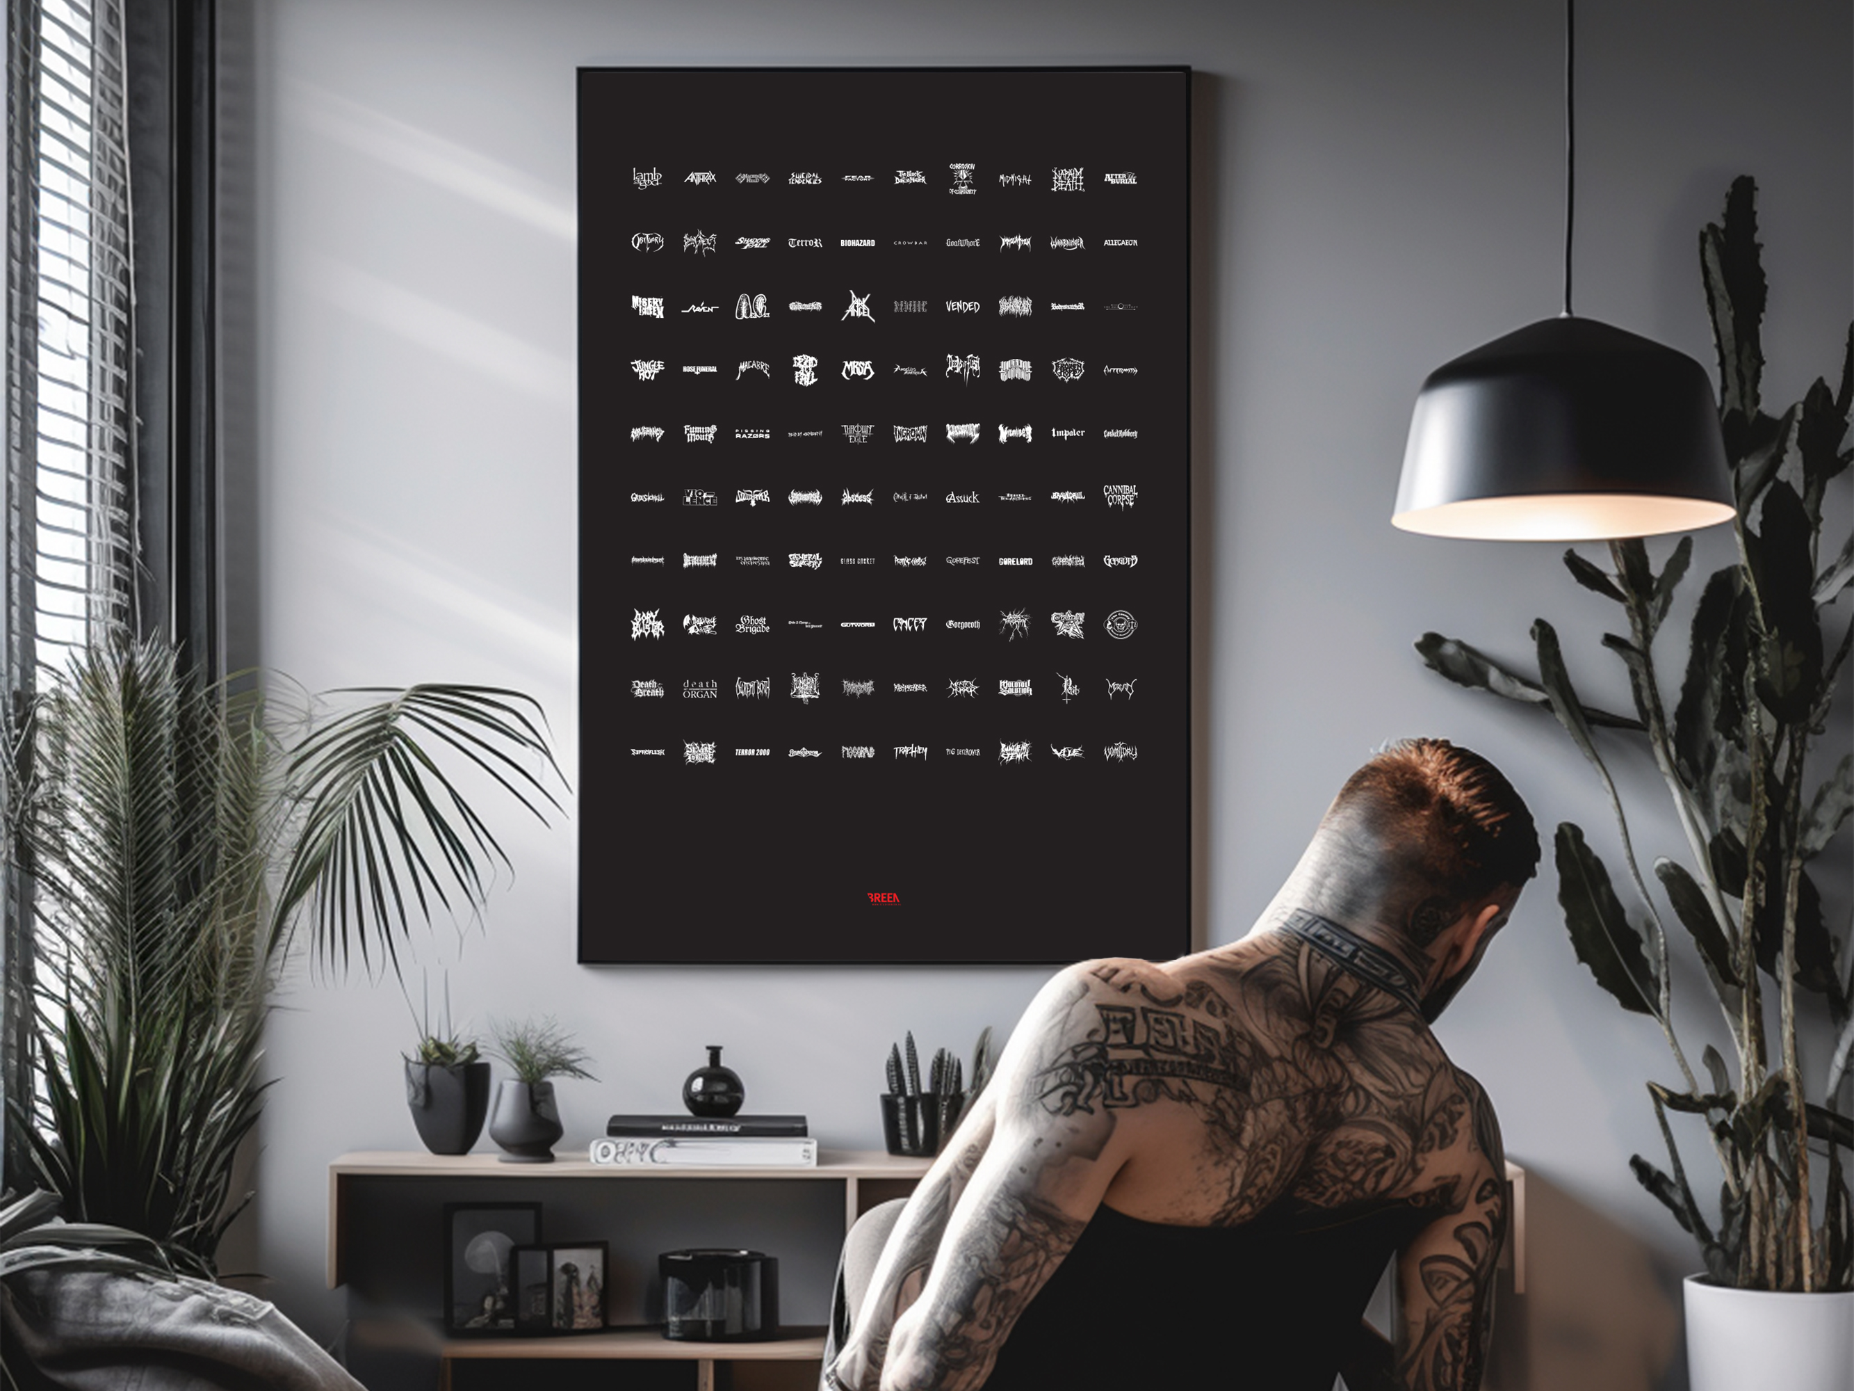
[[[1839,367],[1854,306],[1848,7],[1585,11],[1580,310],[1709,364],[1695,236],[1730,176],[1752,172],[1767,384],[1793,399]],[[1422,376],[1557,308],[1550,0],[260,0],[250,52],[261,386],[256,454],[228,464],[254,499],[230,582],[267,666],[310,688],[519,686],[575,766],[577,65],[1190,63],[1200,938],[1246,929],[1331,792],[1390,736],[1478,747],[1541,827],[1602,835],[1593,781],[1552,727],[1444,686],[1409,647],[1435,627],[1524,657],[1546,614],[1576,662],[1606,668],[1602,601],[1568,582],[1557,547],[1387,521]],[[1717,538],[1702,553],[1724,556]],[[1593,694],[1626,699],[1607,670]],[[1678,851],[1667,827],[1644,838]],[[417,959],[456,963],[476,1022],[551,1009],[580,1031],[603,1081],[562,1089],[567,1144],[608,1111],[673,1107],[701,1044],[723,1042],[753,1107],[875,1146],[888,1042],[912,1027],[970,1046],[1040,979],[580,968],[575,896],[623,901],[651,868],[612,846],[610,872],[577,885],[571,820],[508,840],[519,877],[482,931],[441,931]],[[1530,892],[1444,1040],[1489,1085],[1517,1157],[1693,1267],[1626,1168],[1656,1144],[1641,1079],[1672,1068],[1652,1026],[1572,959],[1552,896],[1550,879]],[[284,1003],[250,1235],[273,1295],[326,1335],[324,1165],[415,1144],[397,1059],[412,1022],[389,983],[298,979]]]

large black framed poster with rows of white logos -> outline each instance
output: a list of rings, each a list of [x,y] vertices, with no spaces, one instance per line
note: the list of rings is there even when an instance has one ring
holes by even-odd
[[[580,70],[580,961],[1188,950],[1188,85]]]

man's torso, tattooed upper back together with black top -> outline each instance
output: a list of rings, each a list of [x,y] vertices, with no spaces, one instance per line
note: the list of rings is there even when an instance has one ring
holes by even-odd
[[[1470,1133],[1491,1111],[1413,998],[1290,933],[1066,976],[1035,1102],[1075,1126],[1064,1144],[1124,1163],[988,1391],[1327,1391],[1387,1263],[1439,1217],[1463,1219],[1459,1252],[1431,1254],[1439,1293],[1492,1257],[1468,1211],[1492,1196],[1498,1139]],[[1439,1341],[1459,1372],[1461,1339]]]

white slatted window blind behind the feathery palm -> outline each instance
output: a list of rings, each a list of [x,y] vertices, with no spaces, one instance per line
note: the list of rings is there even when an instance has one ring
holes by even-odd
[[[0,605],[13,727],[133,618],[133,287],[122,0],[7,0],[7,438]],[[7,777],[22,770],[6,768]],[[26,1085],[32,866],[9,862],[0,1089]],[[7,1168],[17,1161],[7,1133]]]

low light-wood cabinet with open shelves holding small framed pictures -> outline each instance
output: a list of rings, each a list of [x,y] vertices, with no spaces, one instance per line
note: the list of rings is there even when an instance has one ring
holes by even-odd
[[[371,1391],[451,1391],[464,1363],[693,1363],[686,1385],[816,1385],[823,1321],[844,1233],[870,1207],[901,1198],[925,1159],[825,1150],[816,1168],[603,1168],[586,1159],[504,1165],[493,1154],[345,1154],[328,1167],[328,1285],[349,1291],[349,1356]],[[441,1332],[443,1204],[543,1204],[547,1241],[608,1241],[604,1334],[452,1337]],[[671,1343],[647,1324],[656,1256],[684,1246],[749,1246],[779,1257],[786,1337]],[[489,1372],[482,1367],[480,1372]],[[532,1369],[527,1369],[532,1372]],[[640,1374],[641,1374],[640,1367]],[[506,1385],[528,1376],[508,1367]],[[623,1385],[610,1380],[610,1385]]]

